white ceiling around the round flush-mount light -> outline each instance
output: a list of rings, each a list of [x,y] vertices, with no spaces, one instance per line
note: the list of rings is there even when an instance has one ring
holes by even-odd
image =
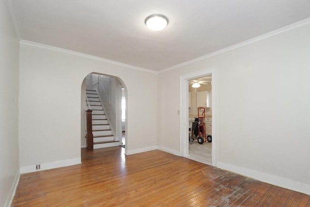
[[[9,0],[22,40],[154,71],[310,17],[310,0]],[[145,17],[169,24],[148,30]]]

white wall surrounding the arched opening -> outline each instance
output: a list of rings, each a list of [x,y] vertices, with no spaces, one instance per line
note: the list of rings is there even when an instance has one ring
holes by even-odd
[[[21,43],[19,157],[22,168],[34,171],[38,163],[78,162],[81,84],[92,72],[124,81],[128,93],[127,153],[155,148],[155,73]]]

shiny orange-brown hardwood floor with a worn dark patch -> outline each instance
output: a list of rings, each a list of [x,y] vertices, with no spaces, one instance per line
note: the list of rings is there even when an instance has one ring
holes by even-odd
[[[310,196],[159,150],[81,150],[82,164],[20,176],[13,207],[309,207]]]

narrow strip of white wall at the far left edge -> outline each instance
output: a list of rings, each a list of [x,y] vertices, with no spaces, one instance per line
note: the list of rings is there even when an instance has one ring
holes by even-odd
[[[18,59],[16,36],[6,1],[0,0],[0,206],[9,206],[19,178]]]

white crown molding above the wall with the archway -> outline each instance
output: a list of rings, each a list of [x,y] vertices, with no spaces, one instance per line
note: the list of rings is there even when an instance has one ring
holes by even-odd
[[[146,68],[142,68],[142,67],[137,67],[137,66],[130,65],[130,64],[124,64],[124,63],[120,63],[120,62],[116,62],[116,61],[111,61],[111,60],[108,60],[108,59],[96,57],[96,56],[93,56],[93,55],[88,55],[88,54],[81,53],[81,52],[72,51],[72,50],[69,50],[69,49],[57,48],[57,47],[53,47],[53,46],[49,46],[49,45],[44,45],[44,44],[40,44],[40,43],[35,43],[35,42],[27,41],[27,40],[20,40],[19,43],[21,45],[27,45],[27,46],[36,47],[36,48],[44,48],[44,49],[48,49],[48,50],[64,52],[64,53],[68,53],[68,54],[71,54],[71,55],[77,55],[77,56],[81,56],[81,57],[84,57],[84,58],[89,58],[89,59],[93,59],[93,60],[97,60],[97,61],[101,61],[101,62],[105,62],[105,63],[109,63],[109,64],[120,65],[120,66],[123,66],[123,67],[128,67],[128,68],[131,68],[131,69],[140,70],[140,71],[143,71],[143,72],[155,73],[155,74],[157,73],[157,71],[154,71],[154,70],[150,70],[150,69],[146,69]]]

